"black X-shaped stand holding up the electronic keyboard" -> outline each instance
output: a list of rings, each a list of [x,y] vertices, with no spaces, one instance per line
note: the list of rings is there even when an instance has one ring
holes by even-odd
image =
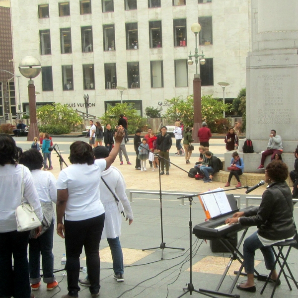
[[[243,255],[242,253],[239,251],[239,247],[240,245],[242,244],[242,241],[247,233],[247,230],[248,230],[248,227],[246,227],[237,243],[237,246],[233,246],[228,239],[225,239],[225,238],[220,238],[220,241],[222,242],[222,244],[224,245],[224,247],[232,254],[230,256],[230,260],[228,262],[228,264],[226,265],[225,267],[225,270],[224,270],[224,274],[222,275],[222,278],[220,280],[220,282],[218,283],[218,286],[216,287],[215,291],[210,291],[210,290],[205,290],[205,289],[199,289],[200,292],[204,292],[204,293],[210,293],[210,294],[221,294],[223,295],[224,293],[221,293],[219,292],[223,282],[224,282],[224,278],[226,276],[226,274],[228,273],[228,270],[230,269],[230,266],[232,265],[232,262],[234,260],[238,260],[238,262],[241,264],[239,270],[237,271],[237,274],[236,274],[236,277],[234,278],[234,281],[228,291],[228,294],[231,294],[232,291],[234,290],[234,287],[238,281],[238,278],[241,274],[241,271],[244,267],[244,263],[243,263]],[[234,271],[235,272],[235,271]],[[255,273],[257,276],[259,276],[259,273],[255,270]]]

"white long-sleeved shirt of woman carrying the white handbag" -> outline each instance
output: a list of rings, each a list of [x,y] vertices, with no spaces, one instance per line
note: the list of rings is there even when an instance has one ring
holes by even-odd
[[[43,213],[29,169],[24,168],[24,202],[30,203],[40,221]],[[0,232],[17,229],[15,209],[21,205],[22,170],[21,165],[0,165]]]

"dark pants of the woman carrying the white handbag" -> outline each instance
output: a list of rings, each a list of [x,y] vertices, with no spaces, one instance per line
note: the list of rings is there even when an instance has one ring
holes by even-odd
[[[30,231],[16,230],[0,233],[0,297],[30,298],[27,259],[29,234]]]

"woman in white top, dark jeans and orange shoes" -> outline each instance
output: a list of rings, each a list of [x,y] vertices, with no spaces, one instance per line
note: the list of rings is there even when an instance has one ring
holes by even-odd
[[[42,255],[43,281],[47,284],[47,290],[51,291],[58,286],[54,276],[53,236],[55,213],[53,202],[57,202],[56,178],[49,171],[43,171],[44,159],[36,149],[23,152],[19,163],[26,166],[32,174],[37,190],[41,208],[44,214],[42,232],[38,238],[34,238],[31,232],[29,239],[29,275],[31,290],[38,290],[41,285],[40,277],[40,253]]]

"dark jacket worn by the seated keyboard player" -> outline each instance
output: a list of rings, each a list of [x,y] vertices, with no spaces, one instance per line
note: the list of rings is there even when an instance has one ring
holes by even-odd
[[[263,193],[259,207],[244,211],[239,223],[258,227],[258,234],[269,240],[295,235],[292,193],[286,182],[272,183]]]

